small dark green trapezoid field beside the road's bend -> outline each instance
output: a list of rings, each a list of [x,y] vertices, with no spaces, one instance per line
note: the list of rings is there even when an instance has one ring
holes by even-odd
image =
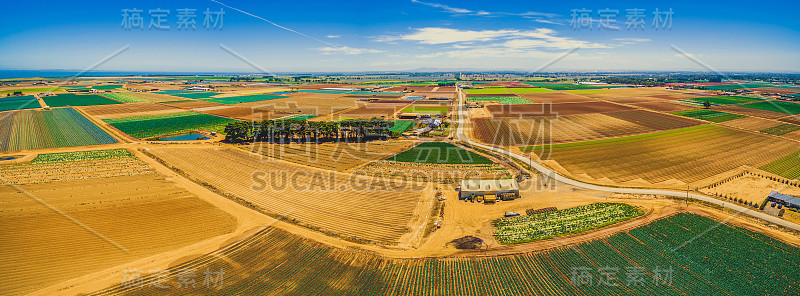
[[[491,164],[486,157],[444,142],[426,142],[403,151],[387,160],[442,164]]]

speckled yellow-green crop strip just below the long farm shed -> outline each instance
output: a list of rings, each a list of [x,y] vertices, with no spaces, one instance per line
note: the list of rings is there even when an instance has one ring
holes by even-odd
[[[502,244],[526,243],[575,234],[641,216],[644,211],[622,203],[596,203],[560,211],[500,218],[494,236]]]

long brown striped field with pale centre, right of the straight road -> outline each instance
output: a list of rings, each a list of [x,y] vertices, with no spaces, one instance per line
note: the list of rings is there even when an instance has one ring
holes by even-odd
[[[475,137],[502,146],[586,141],[697,125],[700,122],[642,110],[536,118],[476,118]]]

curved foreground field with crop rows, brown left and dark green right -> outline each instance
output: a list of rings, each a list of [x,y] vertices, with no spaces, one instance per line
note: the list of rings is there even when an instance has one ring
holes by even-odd
[[[690,244],[685,242],[691,241]],[[223,295],[788,295],[800,284],[800,249],[768,236],[678,214],[628,232],[545,252],[500,257],[389,259],[332,248],[277,228],[176,266],[224,269],[221,288],[183,293]],[[638,271],[640,280],[626,274]],[[587,272],[579,278],[575,273]],[[612,275],[610,281],[603,272]],[[751,279],[757,276],[757,280]],[[602,277],[602,278],[601,278]],[[637,277],[634,277],[636,279]],[[582,284],[581,279],[591,279]],[[579,281],[581,280],[581,281]],[[253,289],[258,287],[258,289]],[[172,289],[117,285],[98,295],[168,295]]]

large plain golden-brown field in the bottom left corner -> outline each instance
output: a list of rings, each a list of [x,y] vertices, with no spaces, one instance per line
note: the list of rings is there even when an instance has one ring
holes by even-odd
[[[159,174],[0,186],[0,294],[19,295],[229,233],[235,218]],[[109,241],[44,206],[80,221]],[[23,230],[24,231],[20,231]]]

